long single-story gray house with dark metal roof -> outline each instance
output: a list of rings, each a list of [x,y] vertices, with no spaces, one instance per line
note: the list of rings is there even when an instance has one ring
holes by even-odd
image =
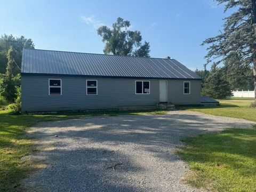
[[[198,105],[201,77],[175,59],[23,49],[22,111]]]

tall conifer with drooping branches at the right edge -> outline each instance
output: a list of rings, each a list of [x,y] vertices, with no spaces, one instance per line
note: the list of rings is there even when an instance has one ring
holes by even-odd
[[[256,103],[256,0],[215,0],[227,10],[235,10],[225,18],[223,33],[207,38],[202,45],[211,44],[205,58],[207,63],[227,61],[236,52],[241,68],[252,66],[254,75],[254,100]],[[233,66],[229,63],[228,66]]]

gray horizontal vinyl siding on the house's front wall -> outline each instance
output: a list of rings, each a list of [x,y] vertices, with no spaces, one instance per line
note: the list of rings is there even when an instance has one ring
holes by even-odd
[[[62,95],[49,95],[49,78],[62,79]],[[98,80],[98,95],[86,95],[86,79]],[[150,94],[135,94],[135,81],[141,81],[141,79],[22,75],[22,111],[155,106],[159,102],[159,80],[143,79],[143,81],[150,81]],[[168,80],[169,102],[199,104],[201,81],[190,82],[191,94],[183,95],[183,81]]]

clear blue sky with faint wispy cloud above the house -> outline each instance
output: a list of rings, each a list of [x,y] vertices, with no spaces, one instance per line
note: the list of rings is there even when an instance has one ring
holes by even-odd
[[[118,17],[150,43],[150,56],[177,59],[203,69],[204,39],[222,29],[224,7],[213,0],[1,1],[0,35],[31,38],[36,49],[103,53],[97,34]]]

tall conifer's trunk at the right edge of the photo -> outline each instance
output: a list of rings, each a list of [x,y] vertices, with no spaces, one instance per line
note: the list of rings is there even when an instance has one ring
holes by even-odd
[[[251,25],[252,35],[256,34],[256,0],[251,0],[252,11],[251,11]],[[252,49],[252,62],[253,62],[253,76],[254,76],[254,102],[256,103],[256,43],[253,41],[251,45]]]

